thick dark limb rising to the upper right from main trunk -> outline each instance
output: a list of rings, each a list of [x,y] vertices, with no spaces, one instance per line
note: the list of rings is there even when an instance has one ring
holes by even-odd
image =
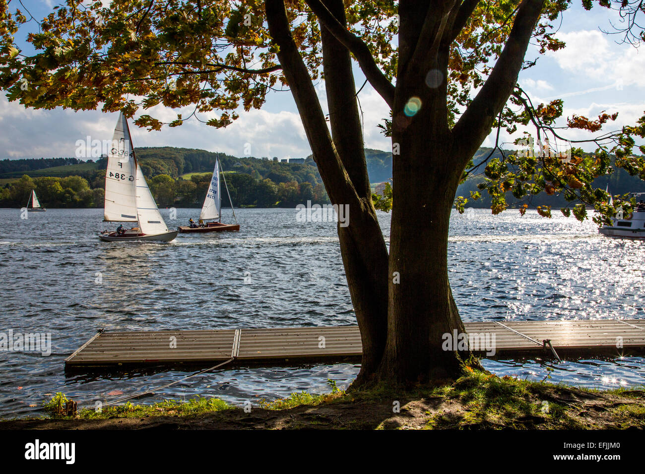
[[[493,121],[515,88],[533,28],[542,13],[544,0],[522,0],[513,28],[502,54],[486,83],[453,127],[455,143],[471,143],[473,150],[462,150],[468,160],[490,132]],[[466,158],[468,156],[468,158]]]

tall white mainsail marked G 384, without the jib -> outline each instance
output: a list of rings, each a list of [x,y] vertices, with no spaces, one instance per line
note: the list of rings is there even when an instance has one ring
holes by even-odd
[[[136,164],[130,130],[123,112],[114,129],[112,144],[108,150],[108,168],[105,170],[104,221],[136,222],[135,199]]]

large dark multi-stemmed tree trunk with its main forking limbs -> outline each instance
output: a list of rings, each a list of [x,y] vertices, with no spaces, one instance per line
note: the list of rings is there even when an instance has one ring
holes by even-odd
[[[308,69],[293,42],[283,0],[266,0],[266,16],[328,195],[333,203],[350,206],[350,225],[339,227],[339,237],[363,344],[356,384],[380,381],[409,386],[452,379],[461,373],[460,359],[470,354],[442,347],[444,335],[452,337],[455,330],[464,333],[448,281],[453,199],[464,166],[490,132],[515,86],[544,0],[522,0],[504,50],[452,130],[446,88],[448,53],[477,0],[401,0],[395,87],[373,61],[367,44],[344,26],[341,1],[306,3],[322,26],[333,141]],[[362,136],[357,110],[353,107],[342,117],[344,107],[355,105],[351,63],[332,34],[353,53],[375,90],[392,107],[393,144],[400,153],[393,157],[393,212],[385,277],[384,242],[359,151]],[[437,70],[442,74],[439,81],[426,82],[428,74]],[[408,117],[403,112],[412,97],[421,99],[421,109]],[[389,281],[386,318],[384,278]]]

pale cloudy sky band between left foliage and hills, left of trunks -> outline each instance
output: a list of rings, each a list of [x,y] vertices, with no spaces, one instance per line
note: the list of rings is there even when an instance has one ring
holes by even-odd
[[[186,114],[186,111],[157,106],[145,113],[169,122],[182,112],[183,117],[188,117],[192,110]],[[200,118],[206,121],[216,115],[212,112]],[[0,159],[74,157],[75,143],[79,139],[85,140],[88,135],[92,140],[112,139],[116,121],[117,114],[104,114],[100,110],[26,109],[0,95],[0,127],[3,130],[0,149],[4,152]],[[130,132],[135,147],[177,146],[243,156],[244,145],[248,143],[250,155],[255,157],[304,157],[311,153],[299,115],[285,111],[252,110],[222,129],[193,118],[182,126],[163,127],[159,132],[148,132],[131,123]]]

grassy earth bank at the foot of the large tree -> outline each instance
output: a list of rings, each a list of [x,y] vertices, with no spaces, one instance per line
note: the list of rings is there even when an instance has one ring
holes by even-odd
[[[46,404],[49,416],[7,420],[0,429],[624,429],[645,428],[642,390],[595,391],[472,371],[451,384],[393,392],[346,393],[332,382],[324,395],[294,393],[259,405],[223,400],[168,400],[64,415],[65,399]]]

